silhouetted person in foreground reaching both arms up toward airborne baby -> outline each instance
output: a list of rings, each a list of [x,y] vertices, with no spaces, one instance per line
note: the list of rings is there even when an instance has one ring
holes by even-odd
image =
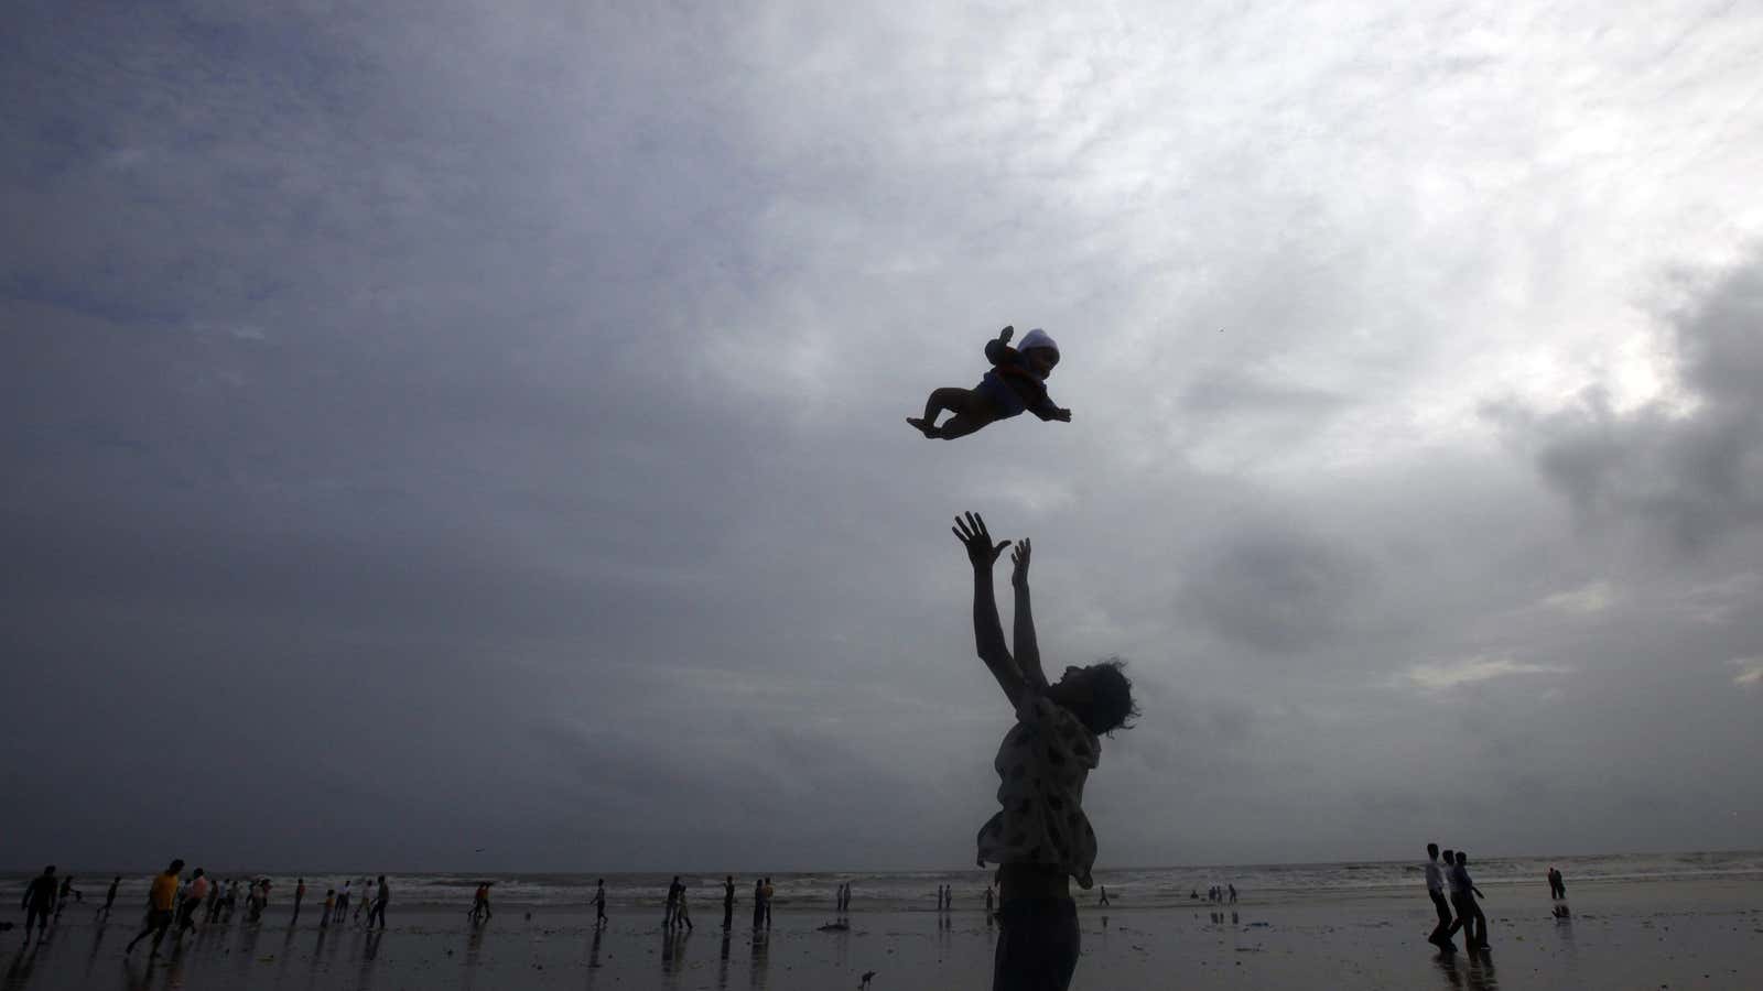
[[[993,566],[1010,541],[993,543],[978,513],[952,527],[973,568],[975,649],[1005,698],[1015,726],[998,746],[998,804],[977,836],[978,862],[1000,864],[1003,933],[993,991],[1063,991],[1077,970],[1081,936],[1070,880],[1091,887],[1097,838],[1082,811],[1084,783],[1102,756],[1102,735],[1137,714],[1120,661],[1068,667],[1056,684],[1040,667],[1030,608],[1028,540],[1010,554],[1015,589],[1015,654],[1005,645],[993,596]]]

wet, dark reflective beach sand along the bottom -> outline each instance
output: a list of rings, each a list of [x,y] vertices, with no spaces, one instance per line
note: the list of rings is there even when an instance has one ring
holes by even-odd
[[[1541,887],[1541,885],[1537,885]],[[1491,892],[1490,892],[1491,894]],[[1213,922],[1213,906],[1082,910],[1084,956],[1075,989],[1114,987],[1467,987],[1648,989],[1763,987],[1763,896],[1745,880],[1585,883],[1574,919],[1557,922],[1541,894],[1486,901],[1491,950],[1444,956],[1425,942],[1432,905],[1412,896],[1248,899]],[[69,910],[51,940],[21,949],[0,936],[7,989],[841,989],[874,970],[874,991],[991,986],[994,929],[982,913],[852,913],[823,933],[830,912],[779,912],[755,940],[737,908],[725,938],[721,906],[698,901],[689,936],[668,938],[659,910],[626,912],[594,933],[589,913],[504,906],[487,926],[464,908],[398,908],[391,929],[321,933],[275,906],[261,926],[217,928],[148,965],[123,959],[136,919],[108,926]]]

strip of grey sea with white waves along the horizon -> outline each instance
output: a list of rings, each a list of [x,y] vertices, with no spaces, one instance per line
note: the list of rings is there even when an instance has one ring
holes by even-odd
[[[1664,882],[1664,880],[1717,880],[1717,878],[1763,878],[1763,852],[1710,852],[1710,853],[1611,853],[1592,857],[1490,857],[1470,862],[1470,875],[1483,890],[1506,885],[1534,885],[1546,890],[1543,880],[1548,868],[1562,871],[1567,880],[1567,896],[1573,898],[1576,885],[1610,882]],[[63,871],[65,873],[65,871]],[[76,889],[85,894],[88,906],[104,903],[104,890],[115,871],[76,871]],[[240,876],[231,871],[213,871],[217,876]],[[23,896],[32,875],[4,875],[9,898]],[[250,876],[250,875],[243,875]],[[286,908],[293,899],[293,875],[268,875],[272,878],[270,903]],[[622,875],[388,875],[393,905],[457,905],[460,912],[471,906],[472,890],[478,882],[494,882],[492,905],[504,908],[582,908],[594,896],[598,876],[606,880],[608,913],[621,910],[658,908],[665,896],[672,873],[622,873]],[[753,882],[756,875],[735,875],[735,894],[740,908],[751,908]],[[991,871],[822,871],[822,873],[777,873],[770,875],[776,889],[774,908],[790,910],[827,910],[832,908],[837,885],[852,883],[852,908],[887,910],[887,912],[933,912],[938,885],[954,885],[956,910],[977,908],[986,892]],[[118,906],[136,906],[146,898],[146,885],[152,878],[145,875],[123,876],[116,894]],[[305,875],[307,906],[324,901],[324,889],[342,889],[346,875]],[[721,906],[723,875],[686,873],[681,880],[689,887],[689,898],[698,912]],[[1238,864],[1238,866],[1195,866],[1195,868],[1121,868],[1100,869],[1097,883],[1107,885],[1114,910],[1132,908],[1167,908],[1174,905],[1192,905],[1190,892],[1197,890],[1206,898],[1209,885],[1234,883],[1241,903],[1266,905],[1269,901],[1294,901],[1306,898],[1340,896],[1379,896],[1412,894],[1423,890],[1425,878],[1419,861],[1366,861],[1342,864]],[[354,890],[360,890],[361,878],[354,878]],[[1090,892],[1090,899],[1095,892]],[[1084,896],[1079,896],[1082,901]],[[737,908],[739,910],[739,908]]]

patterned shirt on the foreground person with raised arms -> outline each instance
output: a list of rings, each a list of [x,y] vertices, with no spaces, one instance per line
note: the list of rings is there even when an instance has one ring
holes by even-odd
[[[1102,741],[1063,705],[1030,689],[1015,726],[998,746],[998,804],[978,832],[978,862],[1051,864],[1091,887],[1097,834],[1084,816],[1084,779],[1102,758]]]

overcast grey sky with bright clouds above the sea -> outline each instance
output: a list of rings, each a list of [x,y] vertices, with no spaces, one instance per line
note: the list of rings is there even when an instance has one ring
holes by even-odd
[[[4,866],[1756,846],[1763,11],[1077,7],[9,4]]]

